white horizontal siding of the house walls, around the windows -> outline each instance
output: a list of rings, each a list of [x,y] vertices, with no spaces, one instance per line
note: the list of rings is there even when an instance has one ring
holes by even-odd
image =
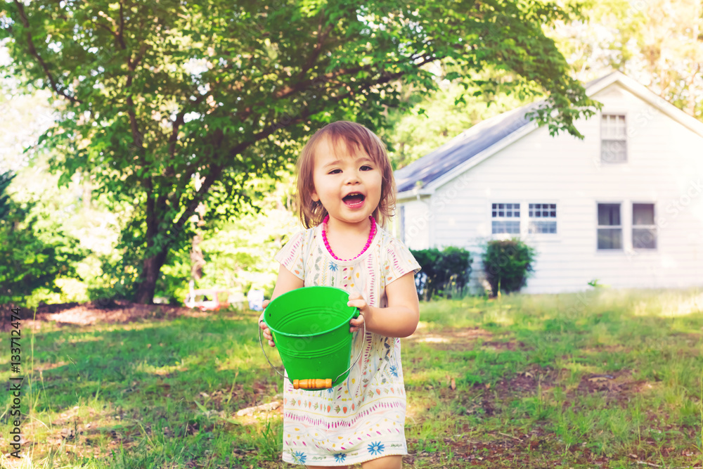
[[[482,243],[493,238],[491,203],[515,202],[521,204],[522,238],[537,250],[524,293],[584,290],[596,278],[616,288],[703,285],[703,137],[617,83],[594,98],[604,103],[603,112],[626,114],[628,162],[600,163],[595,115],[576,124],[583,141],[536,129],[421,203],[432,207],[424,213],[432,213],[431,245],[473,251],[475,288],[482,288]],[[557,204],[556,235],[527,233],[529,203]],[[597,249],[598,203],[621,204],[624,250]],[[632,250],[632,203],[654,204],[656,250]],[[406,239],[418,204],[406,204]],[[411,245],[429,242],[423,231]]]

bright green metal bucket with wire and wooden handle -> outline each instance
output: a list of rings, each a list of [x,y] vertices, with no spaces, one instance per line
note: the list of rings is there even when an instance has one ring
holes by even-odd
[[[295,387],[303,380],[324,380],[306,382],[309,390],[324,389],[347,379],[354,336],[349,321],[359,316],[348,301],[349,293],[340,288],[314,286],[284,293],[266,307],[264,323]]]

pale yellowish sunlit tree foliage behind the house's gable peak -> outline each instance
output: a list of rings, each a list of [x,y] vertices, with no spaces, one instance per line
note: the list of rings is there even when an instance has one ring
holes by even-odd
[[[604,0],[583,8],[587,22],[548,32],[586,82],[620,70],[703,120],[701,0]]]

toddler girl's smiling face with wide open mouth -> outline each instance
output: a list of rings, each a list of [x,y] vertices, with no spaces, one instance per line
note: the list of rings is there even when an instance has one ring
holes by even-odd
[[[322,203],[330,219],[346,224],[366,222],[380,202],[382,179],[378,165],[362,148],[340,155],[329,139],[318,142],[312,199]]]

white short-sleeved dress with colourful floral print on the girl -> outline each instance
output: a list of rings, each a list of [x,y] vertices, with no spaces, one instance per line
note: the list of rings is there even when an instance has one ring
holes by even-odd
[[[334,259],[322,241],[321,225],[296,233],[274,257],[304,281],[361,293],[372,307],[386,307],[386,285],[420,271],[410,250],[378,229],[360,257]],[[283,387],[283,461],[308,465],[349,465],[408,454],[406,395],[400,339],[356,333],[349,378],[330,390]]]

